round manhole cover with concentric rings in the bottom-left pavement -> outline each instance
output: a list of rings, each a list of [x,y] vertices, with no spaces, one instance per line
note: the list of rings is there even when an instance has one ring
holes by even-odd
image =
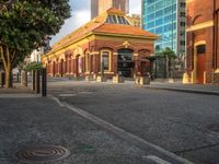
[[[44,163],[62,160],[70,155],[70,151],[57,145],[32,145],[18,153],[19,160],[25,163]]]

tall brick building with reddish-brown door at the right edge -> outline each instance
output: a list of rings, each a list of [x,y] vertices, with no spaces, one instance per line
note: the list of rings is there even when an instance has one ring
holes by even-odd
[[[187,0],[184,83],[219,83],[219,1]]]

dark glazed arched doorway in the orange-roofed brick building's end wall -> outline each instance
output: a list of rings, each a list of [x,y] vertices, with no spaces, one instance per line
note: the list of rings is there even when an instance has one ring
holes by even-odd
[[[118,50],[118,73],[126,78],[132,78],[135,61],[132,60],[134,50],[123,48]]]

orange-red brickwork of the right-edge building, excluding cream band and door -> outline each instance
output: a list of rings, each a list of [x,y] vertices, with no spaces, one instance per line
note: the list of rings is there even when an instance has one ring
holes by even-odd
[[[216,8],[219,9],[219,1],[216,0]],[[193,0],[187,3],[187,28],[197,26],[203,23],[214,21],[214,0]],[[206,63],[205,70],[207,73],[207,82],[212,80],[212,54],[214,54],[214,27],[206,26],[205,28],[187,32],[187,71],[191,73],[194,69],[194,44],[200,40],[206,42]],[[218,44],[219,47],[219,44]],[[217,55],[219,58],[219,55]],[[217,62],[219,63],[219,59]],[[218,65],[219,68],[219,65]],[[215,75],[217,79],[218,75]]]

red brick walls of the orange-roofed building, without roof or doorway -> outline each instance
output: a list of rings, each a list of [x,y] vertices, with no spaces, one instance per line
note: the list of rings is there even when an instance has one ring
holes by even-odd
[[[101,51],[110,51],[110,71],[105,71],[106,77],[112,78],[118,73],[118,50],[130,49],[132,51],[132,62],[135,69],[132,75],[136,73],[146,74],[147,67],[150,66],[145,57],[153,54],[153,43],[145,44],[120,40],[93,40],[81,45],[80,48],[83,54],[76,54],[76,49],[66,50],[65,55],[56,55],[57,58],[44,58],[43,62],[47,67],[48,75],[51,77],[85,77],[100,75],[101,73]],[[90,47],[90,49],[89,49]],[[79,61],[80,60],[80,61]],[[81,66],[79,66],[81,65]]]

